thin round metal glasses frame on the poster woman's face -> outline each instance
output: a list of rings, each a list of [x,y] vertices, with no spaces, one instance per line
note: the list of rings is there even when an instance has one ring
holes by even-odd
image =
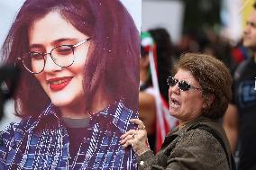
[[[25,69],[26,69],[27,71],[29,71],[30,73],[32,73],[32,74],[39,74],[39,73],[41,73],[41,72],[44,70],[45,63],[46,63],[46,58],[45,58],[45,56],[47,56],[48,54],[50,54],[50,58],[52,59],[52,61],[54,62],[54,64],[56,64],[57,66],[59,66],[59,67],[69,67],[69,66],[71,66],[71,65],[75,62],[75,49],[76,49],[78,46],[80,46],[80,45],[86,43],[86,42],[89,41],[89,40],[91,40],[91,37],[90,37],[90,38],[87,38],[86,40],[82,40],[82,41],[78,42],[78,43],[75,44],[75,45],[60,45],[60,46],[57,46],[57,47],[54,47],[53,49],[51,49],[49,53],[40,53],[40,52],[28,52],[28,53],[26,53],[26,54],[29,54],[29,55],[31,55],[32,53],[34,53],[34,54],[40,54],[40,55],[42,56],[42,58],[43,58],[43,67],[42,67],[41,70],[38,71],[38,72],[33,72],[33,71],[32,71],[29,67],[27,67],[26,64],[24,63],[24,58],[30,58],[30,57],[17,58],[17,61],[22,61],[23,67],[25,67]],[[61,66],[61,65],[59,65],[59,63],[56,61],[57,59],[56,59],[54,56],[52,56],[52,51],[54,51],[55,49],[58,49],[58,48],[60,48],[60,47],[69,47],[69,48],[72,50],[72,55],[74,56],[74,58],[72,59],[72,62],[71,62],[70,64],[68,64],[67,66]],[[24,56],[24,55],[23,55],[23,56]],[[16,65],[16,62],[15,62],[14,64]]]

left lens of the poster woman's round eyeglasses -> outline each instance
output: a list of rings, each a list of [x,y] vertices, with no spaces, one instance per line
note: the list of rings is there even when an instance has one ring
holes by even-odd
[[[29,52],[23,55],[23,66],[31,73],[40,73],[44,64],[44,54]]]

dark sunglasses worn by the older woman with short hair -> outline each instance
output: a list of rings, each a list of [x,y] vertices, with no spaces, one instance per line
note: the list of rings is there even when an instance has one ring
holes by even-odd
[[[167,84],[168,84],[169,86],[174,86],[174,85],[176,85],[177,83],[178,83],[178,88],[179,88],[180,90],[184,91],[184,92],[185,92],[185,91],[188,91],[189,89],[197,89],[197,90],[201,91],[200,88],[195,87],[195,86],[192,86],[192,85],[188,84],[188,83],[187,83],[186,81],[184,81],[184,80],[178,81],[178,79],[174,78],[173,76],[169,76],[169,77],[167,78]]]

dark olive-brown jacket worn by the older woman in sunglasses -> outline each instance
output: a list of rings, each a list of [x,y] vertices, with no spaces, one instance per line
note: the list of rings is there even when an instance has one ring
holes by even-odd
[[[229,153],[229,160],[221,143],[213,134],[206,130],[193,128],[198,124],[215,130],[224,142],[227,153]],[[201,116],[187,123],[182,129],[170,132],[156,156],[152,151],[147,151],[137,157],[137,160],[139,170],[228,170],[230,169],[229,162],[231,162],[230,155],[230,145],[220,122]]]

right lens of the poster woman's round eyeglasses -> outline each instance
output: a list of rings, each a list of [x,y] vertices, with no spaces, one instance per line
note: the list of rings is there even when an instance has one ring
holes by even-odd
[[[75,59],[74,50],[66,45],[56,47],[51,51],[51,58],[59,67],[69,67]]]

